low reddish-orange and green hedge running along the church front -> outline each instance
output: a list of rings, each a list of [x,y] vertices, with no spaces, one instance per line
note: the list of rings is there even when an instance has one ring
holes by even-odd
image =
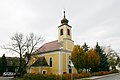
[[[107,74],[112,74],[115,72],[109,72],[109,71],[100,71],[100,72],[95,72],[91,75],[89,72],[81,72],[79,74],[73,73],[73,74],[63,74],[61,75],[53,75],[53,74],[46,74],[46,75],[41,75],[41,74],[25,74],[22,80],[71,80],[73,79],[80,79],[80,78],[86,78],[86,77],[91,77],[91,76],[101,76],[101,75],[107,75]]]

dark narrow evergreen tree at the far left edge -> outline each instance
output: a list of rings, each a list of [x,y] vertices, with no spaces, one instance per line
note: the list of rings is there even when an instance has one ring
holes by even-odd
[[[7,60],[6,60],[5,54],[3,54],[2,58],[0,59],[0,73],[1,74],[6,71],[6,67],[7,67]]]

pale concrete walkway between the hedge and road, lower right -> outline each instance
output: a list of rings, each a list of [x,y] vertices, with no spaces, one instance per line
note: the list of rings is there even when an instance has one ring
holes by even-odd
[[[103,76],[92,76],[92,77],[82,78],[82,79],[77,79],[77,80],[97,80],[97,79],[114,76],[114,75],[120,75],[120,73],[114,73],[114,74],[103,75]]]

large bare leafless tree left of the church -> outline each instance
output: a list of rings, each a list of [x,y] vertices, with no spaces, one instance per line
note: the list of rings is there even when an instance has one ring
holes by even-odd
[[[34,52],[34,49],[37,44],[43,41],[42,37],[37,37],[33,33],[24,37],[22,33],[15,33],[11,38],[11,45],[10,47],[5,47],[4,49],[9,49],[10,51],[19,54],[19,71],[22,74],[24,68],[29,63],[31,59],[31,54]],[[24,61],[26,61],[24,63]]]

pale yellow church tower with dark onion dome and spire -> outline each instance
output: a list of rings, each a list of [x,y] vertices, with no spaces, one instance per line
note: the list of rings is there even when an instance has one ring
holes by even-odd
[[[74,45],[74,42],[72,40],[72,27],[68,25],[68,22],[69,21],[66,19],[64,11],[64,17],[61,20],[61,25],[58,26],[58,42],[63,43],[64,50],[72,51]]]

